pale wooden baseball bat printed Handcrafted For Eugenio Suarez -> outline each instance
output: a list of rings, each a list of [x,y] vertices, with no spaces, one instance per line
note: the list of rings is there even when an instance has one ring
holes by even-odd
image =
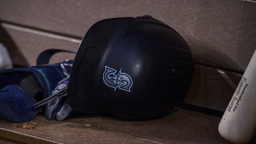
[[[256,130],[256,51],[242,76],[218,127],[231,143],[249,143]]]

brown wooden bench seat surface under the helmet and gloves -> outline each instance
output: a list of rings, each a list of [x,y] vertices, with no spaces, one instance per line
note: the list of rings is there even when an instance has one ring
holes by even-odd
[[[15,139],[20,133],[59,143],[226,143],[218,134],[220,118],[177,110],[169,116],[149,121],[125,121],[113,117],[80,116],[66,121],[47,120],[38,115],[29,129],[14,128],[14,123],[0,119],[2,129],[12,130]],[[28,122],[30,123],[30,122]],[[202,137],[203,135],[203,137]],[[24,138],[24,140],[27,138]],[[29,139],[29,138],[28,138]],[[30,138],[31,139],[31,138]],[[22,139],[16,139],[23,142]],[[21,141],[22,140],[22,141]],[[33,141],[35,142],[35,141]],[[33,143],[29,141],[28,143]]]

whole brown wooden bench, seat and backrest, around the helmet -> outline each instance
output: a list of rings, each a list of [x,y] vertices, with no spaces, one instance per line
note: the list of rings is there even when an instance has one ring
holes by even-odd
[[[35,65],[48,48],[76,51],[99,20],[146,14],[185,38],[196,65],[184,103],[168,116],[127,121],[79,114],[59,122],[39,113],[27,122],[36,123],[33,129],[0,118],[0,143],[228,143],[218,124],[255,50],[255,7],[253,0],[2,0],[0,42],[15,66]],[[74,56],[56,54],[51,62]]]

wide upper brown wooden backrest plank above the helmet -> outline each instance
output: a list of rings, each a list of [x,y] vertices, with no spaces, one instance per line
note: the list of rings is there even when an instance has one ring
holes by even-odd
[[[255,7],[241,0],[2,0],[0,20],[82,38],[99,20],[148,14],[179,32],[197,63],[242,72],[256,48]]]

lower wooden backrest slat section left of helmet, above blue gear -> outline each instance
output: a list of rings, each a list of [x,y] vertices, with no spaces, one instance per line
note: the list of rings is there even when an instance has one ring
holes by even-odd
[[[0,42],[5,45],[10,53],[12,62],[18,66],[36,65],[38,55],[50,48],[64,49],[76,52],[81,39],[47,33],[29,28],[18,27],[1,23]],[[57,53],[50,62],[58,63],[66,59],[74,59],[73,53]]]

